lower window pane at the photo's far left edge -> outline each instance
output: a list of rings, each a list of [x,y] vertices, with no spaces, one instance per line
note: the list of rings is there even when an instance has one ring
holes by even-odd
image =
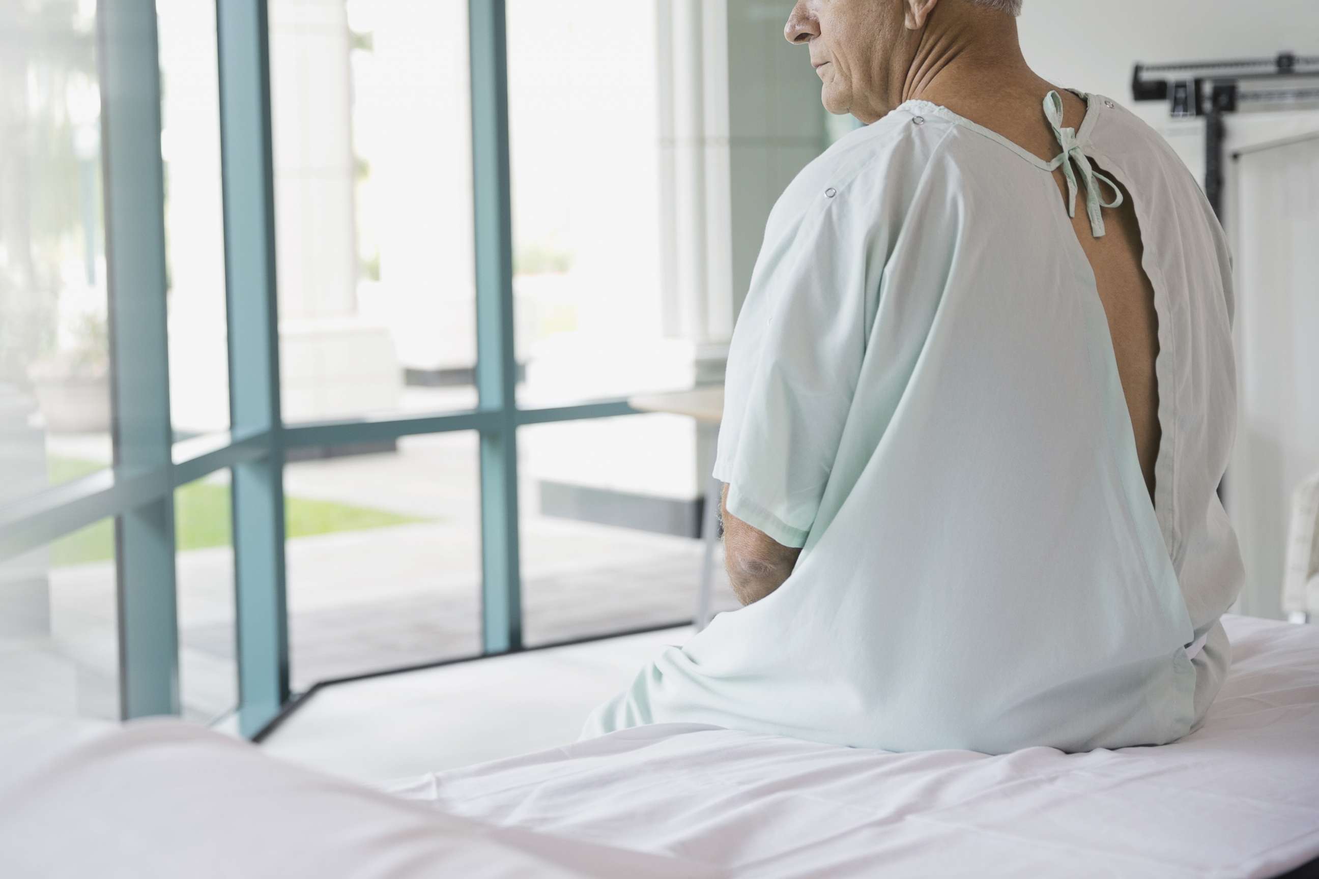
[[[0,561],[0,705],[119,720],[115,521]]]

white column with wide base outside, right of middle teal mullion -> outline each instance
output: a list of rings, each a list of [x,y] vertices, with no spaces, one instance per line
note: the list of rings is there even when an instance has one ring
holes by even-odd
[[[344,0],[270,3],[280,372],[289,422],[397,409],[389,329],[359,310]]]

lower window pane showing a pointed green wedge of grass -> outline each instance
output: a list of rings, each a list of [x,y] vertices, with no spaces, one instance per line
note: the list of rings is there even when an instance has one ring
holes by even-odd
[[[476,434],[332,451],[284,469],[293,688],[479,654]]]

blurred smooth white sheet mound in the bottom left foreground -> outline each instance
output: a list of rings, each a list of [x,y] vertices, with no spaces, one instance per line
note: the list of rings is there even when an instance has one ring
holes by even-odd
[[[4,879],[687,879],[677,857],[435,814],[178,721],[0,717]]]

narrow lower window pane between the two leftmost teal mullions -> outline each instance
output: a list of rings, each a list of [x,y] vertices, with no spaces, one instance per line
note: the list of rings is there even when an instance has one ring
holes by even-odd
[[[237,706],[233,510],[228,470],[174,489],[179,693],[210,723]]]

